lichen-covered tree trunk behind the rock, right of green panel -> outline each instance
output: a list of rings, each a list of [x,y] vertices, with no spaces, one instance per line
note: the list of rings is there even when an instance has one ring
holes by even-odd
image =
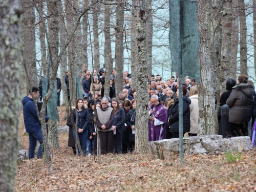
[[[199,135],[216,134],[218,129],[215,118],[215,93],[210,60],[211,38],[211,0],[198,1],[198,27],[200,38],[199,69],[201,83],[199,85]]]

